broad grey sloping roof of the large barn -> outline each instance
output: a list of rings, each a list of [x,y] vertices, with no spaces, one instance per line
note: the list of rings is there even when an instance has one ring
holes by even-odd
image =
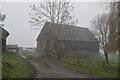
[[[54,39],[57,24],[46,22],[41,30],[37,40],[40,39]],[[72,25],[59,24],[60,34],[58,40],[68,41],[93,41],[98,42],[95,36],[88,28],[77,27]]]

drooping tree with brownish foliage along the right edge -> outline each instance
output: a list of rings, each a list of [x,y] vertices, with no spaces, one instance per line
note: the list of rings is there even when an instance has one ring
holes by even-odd
[[[111,2],[109,5],[109,37],[108,37],[108,50],[109,52],[116,52],[118,50],[118,28],[117,28],[117,9],[118,2]]]

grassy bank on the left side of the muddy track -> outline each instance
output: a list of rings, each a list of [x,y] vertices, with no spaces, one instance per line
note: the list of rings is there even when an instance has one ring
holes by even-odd
[[[29,78],[33,74],[32,67],[18,55],[3,54],[2,62],[3,78]]]

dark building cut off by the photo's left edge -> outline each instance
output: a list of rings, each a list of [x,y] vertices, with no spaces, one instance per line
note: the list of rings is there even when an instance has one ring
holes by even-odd
[[[2,27],[0,27],[0,53],[6,52],[6,38],[9,33]]]

